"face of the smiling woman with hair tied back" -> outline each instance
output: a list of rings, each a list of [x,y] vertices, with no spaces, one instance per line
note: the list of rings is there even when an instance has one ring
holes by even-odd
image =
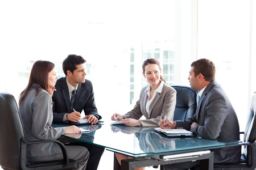
[[[161,71],[158,65],[148,64],[145,66],[145,71],[143,75],[151,86],[155,86],[158,85],[158,83],[160,82]]]

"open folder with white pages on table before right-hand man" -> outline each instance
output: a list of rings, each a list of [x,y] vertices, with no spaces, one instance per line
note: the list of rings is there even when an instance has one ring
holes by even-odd
[[[185,129],[162,129],[162,128],[154,128],[154,131],[158,133],[163,133],[168,137],[193,137],[194,134],[191,131]]]

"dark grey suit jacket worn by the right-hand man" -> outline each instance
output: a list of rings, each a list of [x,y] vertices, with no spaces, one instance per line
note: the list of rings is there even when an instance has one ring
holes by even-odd
[[[191,129],[193,122],[199,126]],[[207,139],[239,140],[240,129],[236,112],[228,96],[216,80],[205,88],[193,117],[176,121],[177,128],[192,131],[197,137]],[[237,163],[241,158],[241,147],[226,147],[214,150],[214,163]]]

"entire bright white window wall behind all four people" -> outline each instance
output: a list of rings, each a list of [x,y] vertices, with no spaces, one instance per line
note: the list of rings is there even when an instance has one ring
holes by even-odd
[[[64,76],[61,62],[78,54],[110,118],[138,100],[144,59],[159,59],[169,85],[189,86],[191,62],[209,58],[242,124],[256,91],[253,10],[253,0],[2,0],[0,91],[18,99],[36,60],[54,62]]]

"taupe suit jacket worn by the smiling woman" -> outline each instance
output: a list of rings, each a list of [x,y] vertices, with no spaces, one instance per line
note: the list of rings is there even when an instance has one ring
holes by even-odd
[[[141,95],[135,107],[133,110],[123,115],[123,117],[139,120],[139,118],[144,116],[146,120],[139,120],[142,126],[158,126],[159,121],[164,118],[164,115],[167,116],[168,120],[174,120],[176,90],[164,83],[162,92],[156,94],[150,105],[150,117],[148,117],[146,112],[146,104],[148,101],[147,92],[145,92],[146,89],[147,86],[142,88]]]

